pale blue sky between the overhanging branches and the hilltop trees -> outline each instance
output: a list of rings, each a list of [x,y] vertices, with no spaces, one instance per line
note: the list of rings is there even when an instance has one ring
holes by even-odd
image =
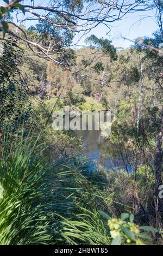
[[[0,0],[0,4],[3,0]],[[28,2],[29,0],[25,0],[24,2]],[[35,0],[35,4],[46,5],[48,0]],[[4,3],[4,2],[3,2]],[[148,16],[148,18],[146,18]],[[134,40],[137,37],[143,37],[145,35],[152,35],[152,33],[158,28],[155,20],[153,18],[153,11],[148,12],[140,12],[140,13],[130,13],[125,16],[122,20],[111,23],[111,32],[109,35],[108,28],[104,25],[99,25],[95,29],[92,29],[90,34],[95,34],[98,38],[104,37],[112,40],[112,43],[116,47],[128,47],[131,42],[128,40],[124,40],[121,38],[121,34],[123,37],[129,38],[130,40]],[[140,21],[141,20],[141,21]],[[28,22],[26,26],[35,25],[35,22]],[[87,35],[87,36],[88,36]],[[74,43],[77,42],[80,35],[77,35],[74,39]],[[84,44],[86,36],[80,40],[79,44]]]

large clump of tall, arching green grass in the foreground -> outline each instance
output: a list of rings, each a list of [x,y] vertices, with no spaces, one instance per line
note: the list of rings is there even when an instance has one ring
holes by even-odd
[[[0,244],[109,245],[77,166],[55,156],[47,162],[39,138],[11,141],[5,136],[0,160]]]

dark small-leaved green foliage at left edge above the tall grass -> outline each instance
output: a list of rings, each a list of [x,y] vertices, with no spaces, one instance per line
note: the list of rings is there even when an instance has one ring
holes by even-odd
[[[28,123],[32,106],[27,96],[26,85],[20,73],[23,56],[12,38],[3,44],[0,57],[0,129],[6,125],[14,130],[20,123]]]

